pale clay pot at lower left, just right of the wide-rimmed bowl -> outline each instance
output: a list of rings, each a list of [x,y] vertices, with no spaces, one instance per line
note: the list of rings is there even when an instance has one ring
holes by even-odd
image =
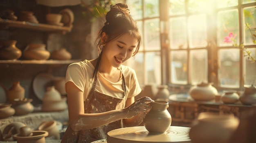
[[[45,121],[39,125],[38,130],[47,131],[49,133],[48,136],[54,136],[55,139],[60,139],[56,121]]]

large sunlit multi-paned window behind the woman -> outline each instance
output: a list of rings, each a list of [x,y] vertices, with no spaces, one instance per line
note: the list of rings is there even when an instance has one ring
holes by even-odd
[[[213,82],[218,89],[256,85],[256,62],[246,56],[248,51],[256,55],[256,36],[252,36],[256,35],[256,0],[126,2],[143,35],[139,54],[127,62],[140,84]],[[168,19],[162,21],[166,15]],[[251,29],[246,29],[246,23]],[[162,36],[166,31],[167,50]],[[229,33],[246,49],[225,42]]]

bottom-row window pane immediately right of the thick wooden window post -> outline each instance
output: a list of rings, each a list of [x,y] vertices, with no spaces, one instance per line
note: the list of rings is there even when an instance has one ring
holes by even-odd
[[[187,84],[187,51],[171,51],[171,83]]]

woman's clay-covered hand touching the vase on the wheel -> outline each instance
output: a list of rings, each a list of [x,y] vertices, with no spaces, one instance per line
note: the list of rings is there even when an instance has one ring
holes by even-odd
[[[139,112],[146,112],[150,109],[149,103],[154,102],[150,97],[141,97],[126,108],[126,119],[132,118]]]

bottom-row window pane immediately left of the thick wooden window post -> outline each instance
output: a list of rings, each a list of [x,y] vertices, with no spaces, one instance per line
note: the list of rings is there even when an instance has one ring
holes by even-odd
[[[160,52],[145,53],[146,83],[161,84],[161,57]]]

